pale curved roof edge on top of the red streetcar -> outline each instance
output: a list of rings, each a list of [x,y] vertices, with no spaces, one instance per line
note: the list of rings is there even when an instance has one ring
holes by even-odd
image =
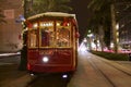
[[[33,16],[28,17],[27,20],[34,20],[34,18],[38,18],[38,17],[43,17],[43,16],[74,17],[75,18],[75,14],[69,14],[69,13],[63,13],[63,12],[46,12],[46,13],[33,15]]]

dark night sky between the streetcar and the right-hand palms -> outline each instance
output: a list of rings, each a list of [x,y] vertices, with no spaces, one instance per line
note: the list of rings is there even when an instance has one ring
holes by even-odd
[[[88,2],[90,0],[72,0],[71,2],[72,13],[76,14],[79,23],[80,40],[83,38],[85,29],[87,29],[87,21],[91,16],[91,12],[87,9]]]

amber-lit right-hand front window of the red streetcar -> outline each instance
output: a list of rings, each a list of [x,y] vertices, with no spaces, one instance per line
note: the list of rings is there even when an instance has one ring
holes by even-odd
[[[71,47],[71,23],[57,22],[57,47]]]

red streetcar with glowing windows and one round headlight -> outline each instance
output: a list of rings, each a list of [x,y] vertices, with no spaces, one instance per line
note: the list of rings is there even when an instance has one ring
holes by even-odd
[[[27,24],[27,70],[63,73],[76,70],[78,23],[75,14],[46,12],[31,16]]]

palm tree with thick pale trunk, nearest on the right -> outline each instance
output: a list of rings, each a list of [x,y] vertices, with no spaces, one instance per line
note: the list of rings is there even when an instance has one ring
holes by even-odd
[[[93,11],[100,11],[105,7],[105,10],[102,12],[102,14],[103,15],[107,14],[107,17],[111,16],[109,21],[112,29],[112,40],[115,46],[114,50],[116,53],[118,52],[118,40],[117,40],[117,28],[116,28],[117,23],[116,23],[115,4],[119,2],[131,2],[131,0],[92,0],[91,3],[88,4],[88,7],[92,8]],[[109,9],[110,11],[107,11],[107,9]]]

